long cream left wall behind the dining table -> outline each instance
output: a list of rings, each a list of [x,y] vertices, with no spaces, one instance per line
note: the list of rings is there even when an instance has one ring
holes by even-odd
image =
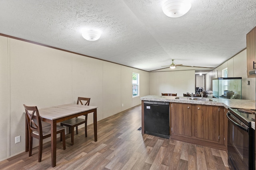
[[[149,95],[149,72],[0,36],[0,160],[25,150],[23,104],[40,109],[90,97],[99,121],[141,103],[132,98],[132,72],[140,74],[140,97]]]

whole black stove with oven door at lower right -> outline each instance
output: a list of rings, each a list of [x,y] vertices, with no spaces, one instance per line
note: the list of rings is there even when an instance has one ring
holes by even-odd
[[[228,165],[232,170],[254,170],[255,110],[228,108]]]

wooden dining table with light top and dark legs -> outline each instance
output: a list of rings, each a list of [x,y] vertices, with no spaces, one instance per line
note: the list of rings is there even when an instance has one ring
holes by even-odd
[[[93,125],[94,125],[94,141],[97,141],[97,108],[96,106],[85,106],[78,104],[64,104],[61,106],[47,107],[44,109],[38,109],[41,121],[45,121],[51,124],[51,148],[52,148],[52,167],[56,166],[56,125],[58,122],[86,115],[93,112]],[[26,117],[26,116],[25,116]],[[26,120],[27,122],[27,120]],[[29,151],[29,134],[28,124],[26,123],[26,148],[25,151]]]

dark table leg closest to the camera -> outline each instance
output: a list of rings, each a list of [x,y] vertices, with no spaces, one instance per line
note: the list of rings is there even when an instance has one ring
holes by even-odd
[[[57,127],[57,123],[56,121],[53,120],[51,122],[52,167],[56,166],[56,143],[57,143],[56,127]]]

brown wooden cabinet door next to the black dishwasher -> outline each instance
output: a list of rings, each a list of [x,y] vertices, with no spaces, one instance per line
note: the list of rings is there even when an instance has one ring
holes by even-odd
[[[192,104],[172,103],[172,134],[192,136]]]

